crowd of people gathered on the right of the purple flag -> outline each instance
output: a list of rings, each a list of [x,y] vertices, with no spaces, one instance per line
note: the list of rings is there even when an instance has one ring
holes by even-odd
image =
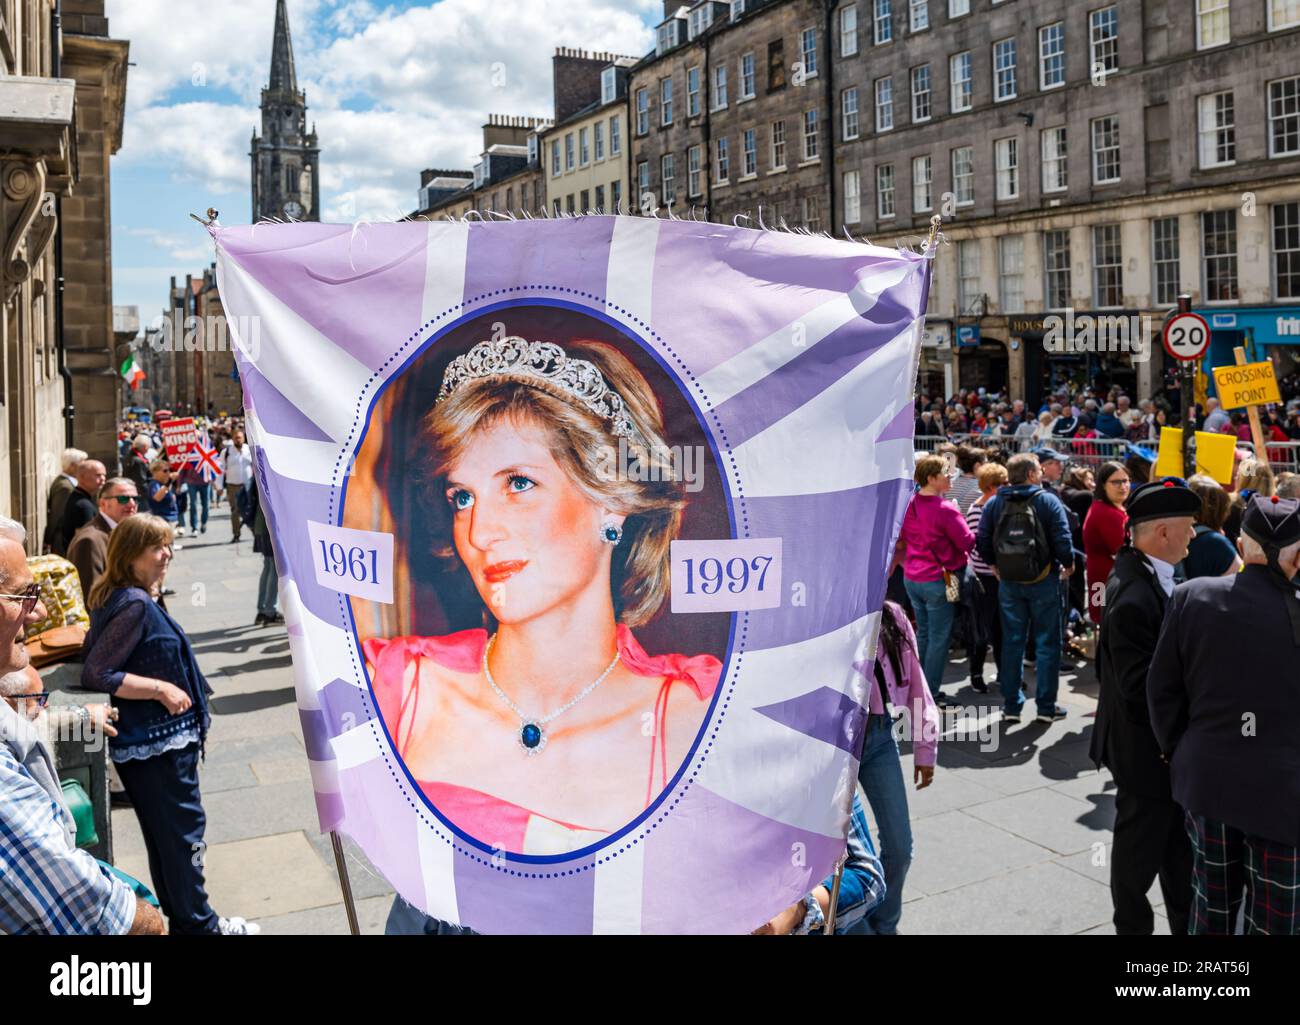
[[[1152,479],[1154,453],[1131,441],[1124,458],[1100,466],[1053,447],[1098,429],[1123,438],[1108,418],[1139,428],[1167,415],[1143,407],[1123,395],[1100,406],[1084,398],[1082,410],[1053,403],[1034,418],[1023,403],[993,402],[988,447],[968,436],[918,446],[889,594],[915,620],[941,710],[958,706],[944,691],[954,683],[945,680],[954,645],[976,693],[988,691],[992,652],[1004,727],[1022,721],[1028,666],[1036,719],[1052,723],[1067,714],[1062,662],[1083,670],[1095,658],[1091,749],[1117,786],[1118,933],[1152,931],[1147,894],[1157,878],[1175,934],[1295,933],[1300,774],[1283,769],[1278,791],[1261,795],[1261,777],[1243,766],[1300,764],[1291,687],[1300,666],[1300,473],[1238,449],[1226,485],[1205,475]],[[1222,412],[1210,399],[1205,425],[1231,423]],[[923,398],[918,437],[940,416],[965,433],[956,431],[965,415],[962,402],[945,415]],[[1288,438],[1300,438],[1296,411],[1286,416]],[[1226,654],[1230,640],[1248,636],[1248,654]],[[1249,686],[1223,686],[1243,674]],[[1268,741],[1243,728],[1256,718]]]

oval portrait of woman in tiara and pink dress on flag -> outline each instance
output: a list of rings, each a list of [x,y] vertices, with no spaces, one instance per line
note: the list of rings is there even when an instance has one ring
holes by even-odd
[[[411,632],[390,632],[393,610],[358,617],[398,756],[441,816],[521,855],[590,847],[637,819],[694,747],[725,656],[727,617],[666,611],[688,503],[715,506],[697,532],[722,526],[716,468],[711,489],[688,492],[634,343],[607,325],[610,341],[575,334],[592,326],[576,319],[529,312],[526,337],[477,325],[450,362],[430,347],[436,392],[408,381],[372,416],[389,419],[358,472],[380,486],[350,493],[344,519],[386,496],[411,553],[396,602]],[[611,451],[640,472],[618,472]]]

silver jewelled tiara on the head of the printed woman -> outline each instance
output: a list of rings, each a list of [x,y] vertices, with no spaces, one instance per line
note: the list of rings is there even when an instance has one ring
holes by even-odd
[[[585,359],[571,359],[554,342],[528,342],[515,336],[478,342],[468,353],[451,360],[442,376],[442,388],[434,405],[462,385],[485,377],[515,377],[525,384],[528,379],[546,382],[608,420],[615,437],[636,437],[623,397],[606,384],[595,364]]]

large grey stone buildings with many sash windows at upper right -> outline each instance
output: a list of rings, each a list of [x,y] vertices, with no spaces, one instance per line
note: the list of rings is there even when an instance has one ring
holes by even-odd
[[[572,117],[549,212],[597,206]],[[1300,372],[1296,0],[667,0],[627,122],[630,212],[889,246],[941,216],[932,395],[1153,394],[1179,293],[1208,367]],[[1062,345],[1066,311],[1110,336]]]

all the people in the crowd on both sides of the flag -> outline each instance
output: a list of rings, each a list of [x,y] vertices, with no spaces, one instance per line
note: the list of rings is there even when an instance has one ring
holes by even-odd
[[[996,684],[1000,721],[1013,727],[1032,667],[1035,718],[1050,725],[1067,714],[1062,665],[1080,670],[1089,659],[1100,684],[1091,751],[1117,787],[1117,931],[1153,931],[1147,895],[1157,879],[1175,934],[1300,930],[1300,774],[1284,767],[1300,764],[1300,702],[1286,692],[1300,665],[1300,473],[1275,472],[1242,449],[1226,486],[1208,476],[1152,479],[1153,453],[1141,445],[1100,466],[1052,446],[1098,424],[1110,431],[1106,418],[1167,416],[1114,398],[1086,397],[1082,408],[1037,418],[1023,403],[991,402],[987,445],[941,440],[918,451],[878,650],[857,666],[867,679],[864,803],[854,797],[848,860],[838,883],[827,878],[758,933],[820,931],[832,914],[836,933],[900,931],[913,859],[900,738],[911,741],[913,786],[926,788],[942,714],[958,706],[954,684],[968,680],[976,693]],[[919,433],[936,419],[927,405],[918,402]],[[944,423],[961,425],[965,403],[950,406]],[[231,542],[251,523],[269,567],[256,622],[282,622],[242,427],[209,429],[220,486],[176,477],[151,425],[124,425],[124,468],[112,477],[103,462],[68,450],[44,539],[74,563],[87,598],[82,683],[110,696],[94,714],[139,819],[156,900],[75,847],[49,752],[23,728],[48,700],[23,645],[44,609],[23,539],[0,523],[0,851],[21,859],[26,881],[0,879],[0,931],[160,933],[156,905],[174,933],[256,931],[213,912],[192,856],[205,827],[198,766],[212,691],[165,601],[186,512],[191,533],[204,533],[224,490]],[[1245,636],[1258,641],[1223,643]],[[957,679],[954,645],[967,663]],[[1243,683],[1223,687],[1227,679]],[[1258,722],[1244,728],[1247,719]],[[1274,782],[1260,787],[1264,778]],[[396,898],[387,931],[467,930]]]

